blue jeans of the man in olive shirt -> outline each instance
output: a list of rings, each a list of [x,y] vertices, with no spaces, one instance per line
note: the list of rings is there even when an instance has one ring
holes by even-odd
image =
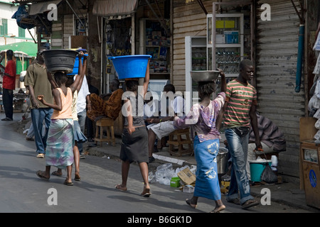
[[[36,141],[36,152],[39,154],[46,153],[48,131],[51,122],[51,115],[53,109],[50,108],[38,108],[31,109],[31,120],[33,124],[34,138]],[[46,125],[46,133],[43,135],[43,121]]]

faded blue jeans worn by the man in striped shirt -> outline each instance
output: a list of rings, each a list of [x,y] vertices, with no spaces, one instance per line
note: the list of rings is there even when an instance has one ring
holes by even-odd
[[[231,179],[227,201],[238,198],[240,193],[240,204],[253,199],[250,195],[250,182],[247,177],[245,165],[247,163],[247,145],[249,143],[249,132],[238,135],[235,128],[225,129],[225,138],[228,142],[229,153],[233,159],[231,167]]]

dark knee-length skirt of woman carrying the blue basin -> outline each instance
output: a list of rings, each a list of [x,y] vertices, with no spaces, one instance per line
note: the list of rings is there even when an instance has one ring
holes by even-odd
[[[130,135],[127,128],[122,132],[120,159],[131,162],[149,162],[148,133],[146,127],[137,127]]]

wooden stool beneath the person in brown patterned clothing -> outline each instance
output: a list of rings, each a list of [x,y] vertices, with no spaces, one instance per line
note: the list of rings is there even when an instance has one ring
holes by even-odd
[[[100,142],[100,147],[102,147],[102,142],[108,142],[110,145],[112,144],[112,146],[115,147],[114,120],[112,118],[101,118],[95,122],[95,127],[95,144]],[[103,136],[104,127],[107,131],[107,137]]]

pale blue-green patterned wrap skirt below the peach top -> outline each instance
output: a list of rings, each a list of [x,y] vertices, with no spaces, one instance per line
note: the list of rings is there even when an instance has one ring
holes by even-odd
[[[51,119],[46,148],[46,165],[65,170],[73,165],[73,119]]]

